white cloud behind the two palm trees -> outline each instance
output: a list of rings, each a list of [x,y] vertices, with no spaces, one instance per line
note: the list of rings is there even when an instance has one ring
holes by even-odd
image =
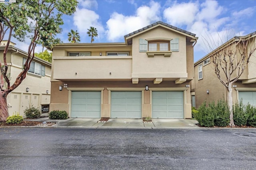
[[[74,13],[74,25],[78,28],[78,32],[80,33],[80,37],[87,36],[87,29],[90,27],[95,27],[98,30],[98,37],[100,38],[104,33],[104,27],[100,23],[100,16],[96,14],[92,10],[88,10],[85,8],[76,9]],[[74,29],[70,27],[70,29]]]

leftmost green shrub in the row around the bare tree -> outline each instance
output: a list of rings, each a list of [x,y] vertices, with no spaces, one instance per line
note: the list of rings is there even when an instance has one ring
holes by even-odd
[[[198,108],[196,120],[201,126],[213,127],[214,126],[214,113],[211,107],[206,107],[206,101]]]

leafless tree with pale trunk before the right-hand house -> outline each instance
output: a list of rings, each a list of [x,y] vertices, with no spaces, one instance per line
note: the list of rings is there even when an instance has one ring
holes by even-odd
[[[209,56],[214,72],[228,91],[227,102],[230,110],[230,126],[234,126],[232,84],[243,74],[250,58],[255,57],[255,37],[256,31],[246,36],[236,36],[216,49],[212,48],[212,42],[203,38],[208,50],[212,51]]]

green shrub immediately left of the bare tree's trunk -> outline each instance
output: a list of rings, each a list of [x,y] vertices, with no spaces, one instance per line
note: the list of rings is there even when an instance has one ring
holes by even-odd
[[[214,106],[212,109],[215,110],[214,125],[226,127],[229,123],[230,115],[228,103],[224,99],[218,100],[216,106]]]

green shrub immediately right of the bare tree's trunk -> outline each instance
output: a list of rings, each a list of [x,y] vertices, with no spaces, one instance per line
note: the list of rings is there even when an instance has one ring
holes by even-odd
[[[242,101],[233,104],[233,119],[235,125],[243,126],[247,124],[247,119],[250,115],[247,114],[245,110]]]

